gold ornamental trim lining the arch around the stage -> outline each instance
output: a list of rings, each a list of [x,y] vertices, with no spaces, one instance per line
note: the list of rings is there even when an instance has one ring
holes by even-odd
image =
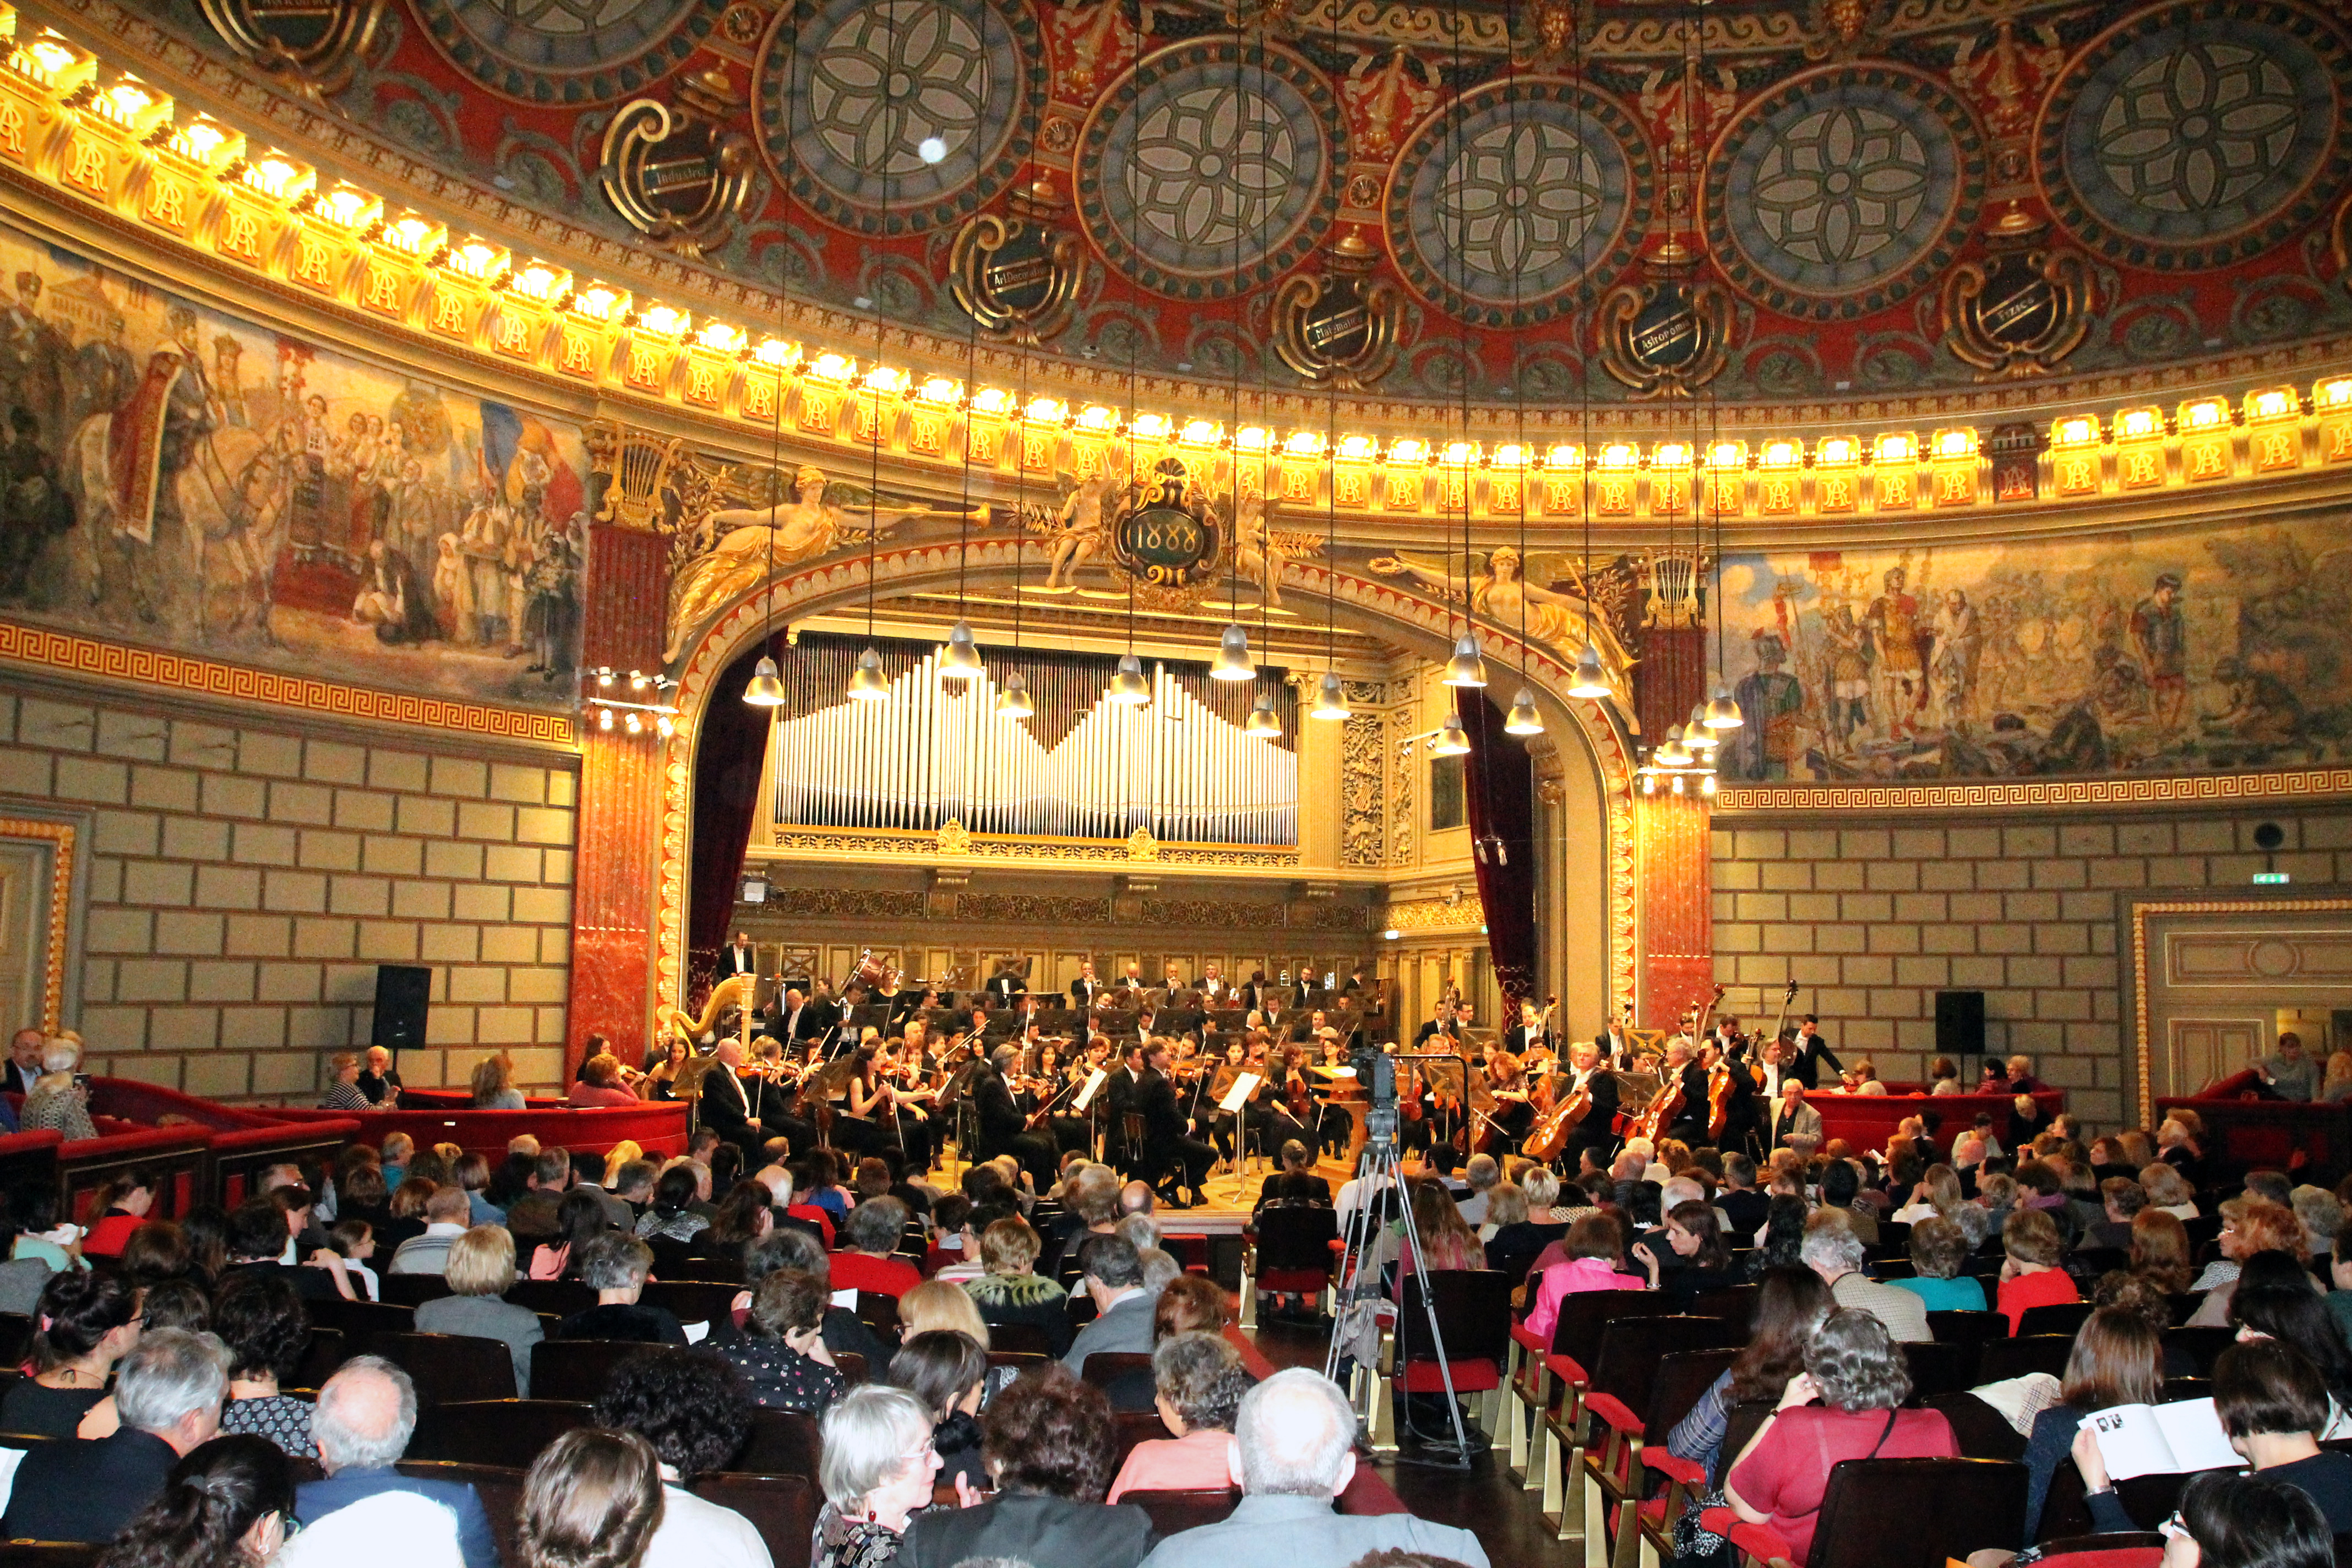
[[[901,550],[882,550],[873,557],[873,583],[889,592],[922,592],[964,581],[1002,578],[1011,581],[1016,552],[1011,541],[981,541],[971,545],[969,574],[962,552],[953,543],[924,543]],[[677,675],[677,708],[684,722],[668,743],[663,757],[663,813],[661,813],[661,879],[656,931],[661,950],[654,959],[656,1004],[680,1006],[684,987],[687,954],[687,865],[694,799],[694,752],[701,745],[703,708],[710,701],[710,684],[731,665],[743,649],[755,644],[771,625],[790,625],[823,611],[863,602],[868,592],[868,562],[863,557],[833,557],[804,571],[793,571],[771,581],[764,590],[731,604],[687,649]],[[1454,628],[1446,623],[1442,604],[1404,592],[1395,583],[1362,578],[1350,571],[1329,571],[1317,564],[1291,562],[1282,569],[1282,585],[1296,588],[1301,597],[1315,599],[1327,590],[1334,597],[1338,621],[1355,630],[1388,637],[1418,654],[1444,658],[1454,646]],[[1573,670],[1562,665],[1541,644],[1526,644],[1526,684],[1552,719],[1569,717],[1583,736],[1599,771],[1602,799],[1606,802],[1606,858],[1609,858],[1609,997],[1613,1004],[1632,999],[1635,990],[1635,898],[1632,898],[1632,748],[1625,733],[1599,703],[1569,696]],[[1522,644],[1503,628],[1486,628],[1486,656],[1498,670],[1519,668]]]

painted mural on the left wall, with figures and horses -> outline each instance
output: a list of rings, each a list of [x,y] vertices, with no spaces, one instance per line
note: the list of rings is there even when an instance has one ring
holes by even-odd
[[[569,705],[579,430],[0,226],[0,616]]]

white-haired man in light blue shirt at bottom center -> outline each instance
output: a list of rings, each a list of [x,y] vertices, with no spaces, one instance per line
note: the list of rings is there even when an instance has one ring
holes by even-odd
[[[1355,1408],[1322,1373],[1294,1366],[1249,1389],[1225,1465],[1242,1502],[1223,1523],[1167,1537],[1143,1568],[1348,1568],[1388,1549],[1486,1568],[1470,1530],[1334,1507],[1355,1481]]]

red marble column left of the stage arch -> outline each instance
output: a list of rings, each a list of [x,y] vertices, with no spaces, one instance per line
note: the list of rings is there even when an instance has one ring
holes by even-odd
[[[581,663],[661,668],[668,541],[597,524],[588,541]],[[621,1056],[644,1046],[654,985],[654,860],[661,846],[659,736],[586,726],[581,738],[579,856],[572,884],[572,1009],[564,1079],[590,1034]]]

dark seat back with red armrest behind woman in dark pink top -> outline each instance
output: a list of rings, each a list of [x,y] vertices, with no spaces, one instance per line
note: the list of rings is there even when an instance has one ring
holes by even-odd
[[[1708,1509],[1750,1563],[1788,1563],[1790,1547],[1731,1509]],[[2025,1467],[1999,1460],[1842,1460],[1830,1469],[1804,1568],[1943,1568],[1971,1552],[2016,1552],[2025,1535]]]

